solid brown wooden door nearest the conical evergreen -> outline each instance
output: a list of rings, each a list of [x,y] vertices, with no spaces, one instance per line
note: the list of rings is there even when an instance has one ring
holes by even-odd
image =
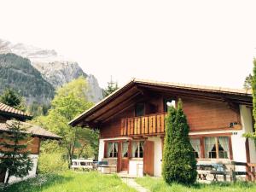
[[[151,141],[144,143],[143,173],[154,176],[154,142]]]

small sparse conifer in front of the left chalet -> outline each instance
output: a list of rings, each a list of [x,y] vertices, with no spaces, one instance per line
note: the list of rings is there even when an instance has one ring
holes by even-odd
[[[0,143],[0,172],[8,172],[5,185],[9,183],[9,177],[26,177],[32,170],[32,159],[27,150],[30,134],[27,128],[20,125],[20,121],[12,120],[7,124],[9,132],[1,134]]]

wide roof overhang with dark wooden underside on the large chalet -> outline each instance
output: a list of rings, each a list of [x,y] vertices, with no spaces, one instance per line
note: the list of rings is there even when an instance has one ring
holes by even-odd
[[[128,84],[114,91],[101,102],[98,102],[95,106],[70,121],[69,125],[96,128],[97,125],[108,120],[112,115],[130,108],[135,102],[139,102],[142,96],[146,97],[148,93],[151,94],[153,92],[205,98],[222,102],[235,102],[247,106],[252,106],[253,104],[251,90],[132,79]]]

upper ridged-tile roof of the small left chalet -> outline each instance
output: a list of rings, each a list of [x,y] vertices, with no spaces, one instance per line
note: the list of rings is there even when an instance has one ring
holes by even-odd
[[[20,111],[19,109],[12,108],[9,105],[3,104],[0,102],[0,114],[9,115],[14,118],[20,118],[20,119],[32,119],[32,115],[28,113],[24,113]]]

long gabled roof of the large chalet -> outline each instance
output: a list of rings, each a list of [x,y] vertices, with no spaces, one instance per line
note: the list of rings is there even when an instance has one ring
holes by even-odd
[[[186,91],[189,94],[193,93],[194,95],[205,94],[211,96],[218,96],[219,99],[224,99],[229,97],[229,99],[236,99],[236,102],[244,102],[249,105],[252,103],[252,90],[239,90],[239,89],[230,89],[222,87],[212,87],[212,86],[202,86],[195,84],[178,84],[170,82],[160,82],[152,81],[145,79],[132,79],[129,83],[125,84],[119,90],[114,91],[111,95],[105,97],[101,102],[96,103],[95,106],[89,108],[84,113],[81,113],[78,117],[69,122],[69,125],[88,125],[93,123],[92,119],[95,119],[96,113],[99,111],[105,110],[108,113],[111,103],[114,103],[111,108],[118,106],[120,103],[125,101],[125,98],[131,98],[131,96],[136,96],[140,92],[143,92],[142,89],[149,90],[158,90],[158,91]],[[120,102],[116,102],[119,100]],[[97,114],[98,115],[98,114]],[[99,115],[100,116],[100,115]]]

